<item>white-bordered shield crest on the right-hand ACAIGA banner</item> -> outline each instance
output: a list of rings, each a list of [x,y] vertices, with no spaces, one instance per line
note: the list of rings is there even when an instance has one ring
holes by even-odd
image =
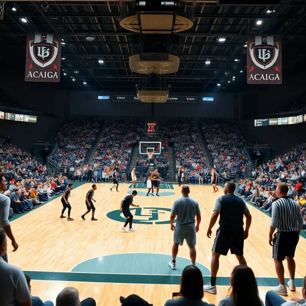
[[[255,42],[250,43],[249,52],[257,67],[267,69],[276,62],[279,46],[274,43],[273,36],[255,36]]]

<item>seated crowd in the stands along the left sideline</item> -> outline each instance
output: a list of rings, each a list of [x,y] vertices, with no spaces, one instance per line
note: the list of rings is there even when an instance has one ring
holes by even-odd
[[[0,172],[4,172],[9,188],[10,216],[30,211],[60,194],[68,185],[66,177],[47,176],[47,168],[21,148],[0,136]]]

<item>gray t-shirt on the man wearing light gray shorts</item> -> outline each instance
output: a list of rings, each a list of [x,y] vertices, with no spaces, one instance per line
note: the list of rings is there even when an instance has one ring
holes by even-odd
[[[176,214],[177,225],[194,225],[195,215],[201,214],[198,202],[189,196],[175,200],[171,212]]]

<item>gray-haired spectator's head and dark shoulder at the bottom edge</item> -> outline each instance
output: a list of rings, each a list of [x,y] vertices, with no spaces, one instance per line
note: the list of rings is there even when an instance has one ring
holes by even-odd
[[[64,288],[56,298],[56,306],[95,306],[95,300],[88,297],[80,302],[79,292],[76,288]]]

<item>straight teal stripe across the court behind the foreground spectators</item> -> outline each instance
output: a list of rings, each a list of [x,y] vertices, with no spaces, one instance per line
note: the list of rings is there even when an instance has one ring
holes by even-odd
[[[169,267],[170,269],[170,267]],[[47,272],[47,271],[24,271],[32,279],[42,281],[66,281],[66,282],[98,282],[98,283],[121,283],[121,284],[157,284],[157,285],[179,285],[180,275],[137,275],[137,274],[101,274],[101,273],[79,273],[79,272]],[[204,284],[210,282],[210,276],[204,276]],[[304,278],[296,278],[297,287],[302,287]],[[288,282],[289,278],[285,278]],[[276,277],[256,277],[258,286],[277,286]],[[228,276],[218,276],[217,285],[229,286]]]

